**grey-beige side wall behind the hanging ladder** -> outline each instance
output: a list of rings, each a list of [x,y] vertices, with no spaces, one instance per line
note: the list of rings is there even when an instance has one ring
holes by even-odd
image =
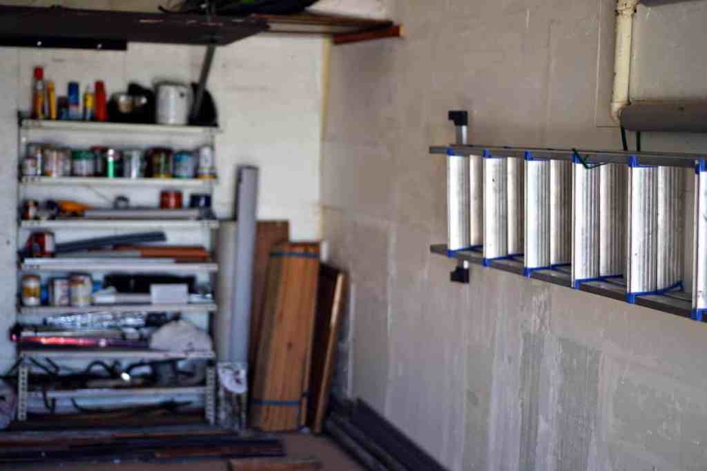
[[[707,469],[707,326],[478,266],[452,284],[452,261],[428,253],[446,228],[428,145],[454,140],[449,109],[469,110],[472,141],[621,148],[614,6],[392,0],[406,39],[332,49],[324,236],[351,273],[337,390],[450,470]],[[633,99],[703,96],[706,14],[638,8]]]

